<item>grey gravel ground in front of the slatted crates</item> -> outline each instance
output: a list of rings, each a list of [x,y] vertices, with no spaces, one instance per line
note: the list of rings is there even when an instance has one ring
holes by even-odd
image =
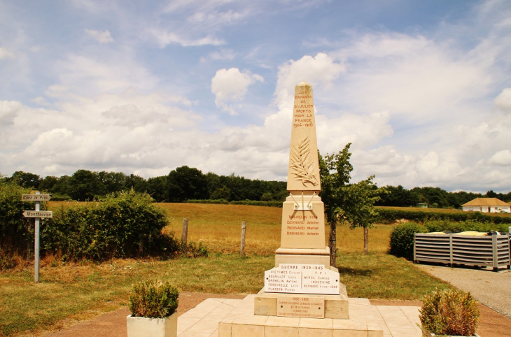
[[[426,264],[416,264],[416,266],[458,289],[470,292],[480,303],[511,318],[511,271],[509,269],[500,268],[496,272],[493,268],[451,268]]]

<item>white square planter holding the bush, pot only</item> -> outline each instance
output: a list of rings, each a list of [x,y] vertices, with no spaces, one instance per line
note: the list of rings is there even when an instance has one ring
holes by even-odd
[[[177,313],[165,318],[126,317],[128,337],[177,337]]]

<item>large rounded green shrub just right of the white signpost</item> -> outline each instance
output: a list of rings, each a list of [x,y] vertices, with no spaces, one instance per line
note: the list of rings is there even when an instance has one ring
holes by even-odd
[[[132,190],[102,202],[62,207],[41,227],[41,249],[63,259],[174,254],[179,243],[173,234],[162,233],[167,215],[152,201]]]

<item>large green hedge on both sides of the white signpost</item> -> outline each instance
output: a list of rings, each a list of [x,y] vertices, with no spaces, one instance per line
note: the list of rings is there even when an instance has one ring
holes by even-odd
[[[23,210],[34,202],[21,201],[29,192],[18,185],[0,183],[0,269],[14,266],[13,256],[29,257],[34,248],[34,220]],[[45,210],[41,202],[41,210]],[[41,256],[61,254],[62,259],[109,259],[145,255],[171,255],[180,250],[167,226],[165,210],[155,206],[148,194],[120,192],[101,202],[76,203],[53,210],[41,220]]]

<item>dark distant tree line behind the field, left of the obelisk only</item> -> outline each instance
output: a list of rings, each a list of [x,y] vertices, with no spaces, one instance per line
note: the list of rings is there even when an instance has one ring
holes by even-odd
[[[251,180],[232,173],[217,175],[181,166],[154,178],[119,172],[89,171],[80,169],[72,175],[53,175],[41,178],[34,173],[16,171],[1,178],[22,187],[52,194],[52,200],[72,199],[92,201],[107,194],[129,191],[147,192],[158,202],[183,202],[193,199],[225,199],[227,201],[283,201],[286,199],[286,182]]]

